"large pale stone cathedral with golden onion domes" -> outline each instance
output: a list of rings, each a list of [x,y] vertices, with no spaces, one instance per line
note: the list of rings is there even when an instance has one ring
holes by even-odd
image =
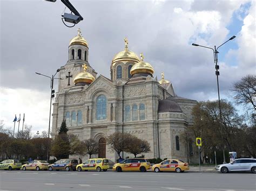
[[[193,124],[196,100],[179,97],[172,83],[154,77],[153,63],[130,51],[127,38],[123,51],[113,56],[110,78],[98,75],[89,63],[89,46],[78,34],[70,40],[68,62],[60,67],[58,92],[53,103],[52,138],[66,120],[68,133],[80,140],[95,139],[99,152],[93,157],[115,161],[105,137],[127,132],[150,143],[146,158],[196,158],[194,140],[187,128]],[[83,156],[86,159],[88,156]],[[124,153],[124,157],[133,154]]]

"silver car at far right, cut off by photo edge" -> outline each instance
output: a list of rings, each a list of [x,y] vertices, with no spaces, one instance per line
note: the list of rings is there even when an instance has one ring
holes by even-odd
[[[218,165],[216,170],[222,173],[232,171],[251,171],[256,173],[256,159],[236,159],[228,164]]]

